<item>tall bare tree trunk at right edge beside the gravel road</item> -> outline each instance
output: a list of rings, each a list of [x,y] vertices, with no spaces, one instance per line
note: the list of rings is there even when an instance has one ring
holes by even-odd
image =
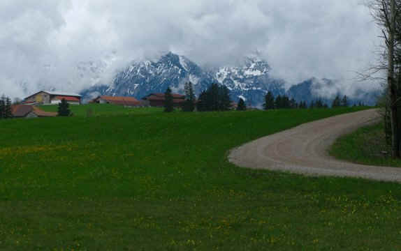
[[[395,45],[395,0],[391,0],[390,25],[388,26],[388,92],[390,96],[391,109],[391,133],[392,133],[392,155],[400,158],[400,142],[398,137],[397,117],[397,86],[394,82],[394,45]]]

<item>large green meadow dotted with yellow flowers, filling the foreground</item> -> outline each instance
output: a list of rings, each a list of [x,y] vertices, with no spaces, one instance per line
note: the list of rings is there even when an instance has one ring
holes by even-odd
[[[0,250],[400,250],[400,184],[226,160],[357,109],[0,121]]]

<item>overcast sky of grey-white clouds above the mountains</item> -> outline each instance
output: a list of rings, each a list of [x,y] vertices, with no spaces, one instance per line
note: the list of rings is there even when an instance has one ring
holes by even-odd
[[[326,77],[340,79],[342,89],[370,89],[377,85],[353,81],[381,43],[361,2],[1,0],[0,93],[78,92],[107,83],[133,59],[168,51],[219,66],[255,50],[289,85]],[[102,62],[104,72],[82,78],[77,66],[88,61]]]

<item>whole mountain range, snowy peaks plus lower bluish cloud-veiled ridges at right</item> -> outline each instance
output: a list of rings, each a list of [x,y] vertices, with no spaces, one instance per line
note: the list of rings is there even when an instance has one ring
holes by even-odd
[[[90,64],[89,64],[89,70]],[[198,64],[169,52],[155,61],[133,61],[123,70],[119,71],[110,84],[97,84],[81,92],[86,99],[98,95],[133,96],[143,98],[149,93],[166,91],[168,86],[175,93],[184,93],[184,83],[194,84],[196,95],[207,89],[207,86],[217,82],[227,86],[231,99],[237,102],[244,99],[247,105],[261,107],[264,96],[272,91],[274,96],[284,95],[295,98],[298,102],[308,103],[321,98],[330,105],[335,95],[344,95],[337,90],[334,80],[316,79],[311,77],[299,84],[285,89],[285,81],[270,75],[268,62],[257,55],[245,57],[236,66],[221,66],[217,68],[201,68]],[[97,68],[91,71],[99,71]],[[351,104],[365,102],[374,105],[379,90],[365,92],[358,89],[353,96],[349,96]]]

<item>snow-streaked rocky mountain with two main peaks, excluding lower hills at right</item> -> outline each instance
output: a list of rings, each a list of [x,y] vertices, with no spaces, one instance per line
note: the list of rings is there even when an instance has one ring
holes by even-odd
[[[249,56],[241,66],[203,70],[185,56],[168,53],[158,61],[135,61],[117,73],[112,84],[97,85],[82,91],[84,96],[133,96],[143,98],[152,92],[164,92],[167,87],[184,93],[184,83],[192,82],[196,95],[213,82],[231,90],[232,100],[243,98],[251,105],[260,105],[267,91],[284,94],[284,81],[269,77],[268,63]]]

